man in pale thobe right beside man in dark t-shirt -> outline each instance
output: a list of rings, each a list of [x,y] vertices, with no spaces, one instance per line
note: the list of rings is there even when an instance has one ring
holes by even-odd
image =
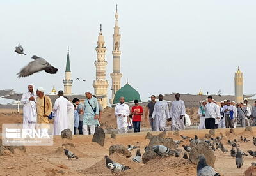
[[[152,131],[166,131],[166,120],[170,119],[168,103],[163,101],[164,96],[159,94],[159,101],[154,106],[152,114],[153,130]]]

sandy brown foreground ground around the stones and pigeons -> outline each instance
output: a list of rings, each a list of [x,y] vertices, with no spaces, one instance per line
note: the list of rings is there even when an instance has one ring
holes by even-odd
[[[216,130],[216,136],[220,135],[220,131],[225,135],[228,129]],[[256,133],[256,128],[253,128],[253,131]],[[236,128],[235,132],[237,136],[229,136],[230,139],[238,139],[240,135],[243,135],[252,140],[253,133],[244,131],[244,128]],[[182,135],[192,137],[197,134],[199,138],[203,138],[205,133],[208,133],[208,131],[180,131]],[[157,132],[153,134],[156,135]],[[172,134],[173,131],[168,131],[168,137],[180,140],[179,136],[173,136]],[[60,136],[54,136],[53,146],[26,147],[26,153],[15,150],[15,154],[0,156],[0,175],[111,175],[104,161],[104,155],[108,155],[109,147],[115,144],[127,145],[139,142],[143,154],[143,149],[149,142],[149,140],[145,139],[145,135],[146,133],[129,133],[117,135],[116,139],[106,135],[104,147],[91,142],[92,136],[90,135],[75,135],[72,141],[62,140]],[[226,136],[223,143],[230,150],[231,147],[226,142],[227,138]],[[75,147],[68,146],[67,148],[79,156],[79,159],[67,160],[63,152],[63,143],[73,143]],[[182,144],[186,143],[189,142],[181,143],[179,148],[182,149]],[[239,148],[243,151],[255,150],[256,148],[252,141],[239,142],[239,145],[241,145]],[[156,158],[143,165],[131,161],[135,152],[135,150],[132,151],[131,158],[124,158],[124,156],[119,154],[111,156],[114,161],[131,167],[131,170],[125,171],[122,175],[196,175],[196,165],[191,164],[188,159],[170,156],[161,159],[161,161],[159,161],[159,158]],[[230,153],[223,154],[220,150],[217,150],[214,154],[216,155],[215,169],[221,175],[244,175],[244,171],[250,166],[250,163],[255,161],[252,156],[244,156],[243,167],[237,169],[235,159],[230,156]]]

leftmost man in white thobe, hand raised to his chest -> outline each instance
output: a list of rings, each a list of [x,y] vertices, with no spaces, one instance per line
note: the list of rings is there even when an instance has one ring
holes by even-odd
[[[23,128],[36,128],[36,92],[33,84],[28,85],[28,92],[24,93],[21,98],[23,106]]]

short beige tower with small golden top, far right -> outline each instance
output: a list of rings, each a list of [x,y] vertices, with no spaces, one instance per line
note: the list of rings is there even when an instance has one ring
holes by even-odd
[[[235,73],[235,101],[236,103],[243,102],[243,87],[244,87],[244,78],[243,73],[238,67],[238,70]]]

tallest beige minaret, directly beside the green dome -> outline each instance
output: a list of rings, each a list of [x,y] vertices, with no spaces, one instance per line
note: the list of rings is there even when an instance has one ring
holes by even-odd
[[[117,12],[117,5],[116,5],[116,23],[114,27],[114,34],[113,34],[113,73],[110,73],[110,76],[112,78],[112,98],[111,98],[111,104],[113,104],[113,100],[116,94],[116,91],[118,91],[121,88],[121,77],[122,73],[120,73],[120,55],[121,52],[119,50],[120,47],[120,38],[121,35],[119,34],[119,26],[118,26],[118,12]]]

